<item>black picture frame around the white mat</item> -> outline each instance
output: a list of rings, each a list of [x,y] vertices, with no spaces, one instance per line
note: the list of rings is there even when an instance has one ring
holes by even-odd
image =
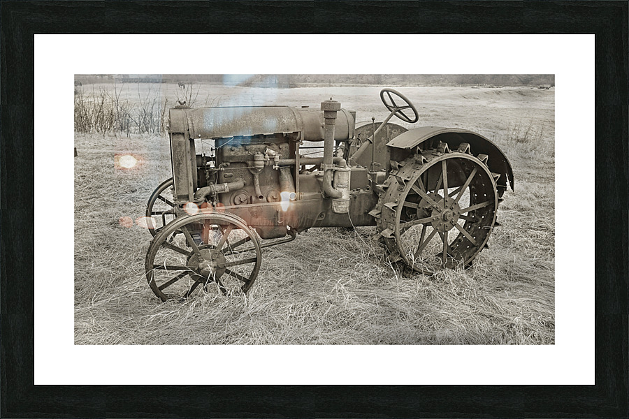
[[[627,1],[2,1],[0,13],[2,418],[629,416]],[[34,34],[65,33],[595,34],[595,140],[574,144],[596,172],[595,385],[34,385]]]

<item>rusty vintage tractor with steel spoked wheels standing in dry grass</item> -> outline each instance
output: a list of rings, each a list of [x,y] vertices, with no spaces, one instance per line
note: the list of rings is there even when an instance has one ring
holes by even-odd
[[[171,109],[173,177],[146,213],[152,291],[247,292],[263,248],[314,227],[376,226],[389,260],[422,274],[468,267],[513,189],[507,157],[471,131],[393,124],[414,124],[417,110],[392,89],[380,98],[382,123],[356,124],[332,98],[320,109]]]

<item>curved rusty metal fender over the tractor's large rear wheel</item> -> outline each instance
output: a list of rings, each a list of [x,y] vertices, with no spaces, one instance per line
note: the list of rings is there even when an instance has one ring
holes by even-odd
[[[391,149],[391,158],[397,153],[393,150],[410,152],[415,147],[421,149],[436,148],[439,142],[447,142],[450,150],[456,150],[462,142],[470,145],[470,152],[475,156],[486,154],[487,166],[493,173],[500,173],[496,181],[500,195],[507,189],[507,180],[511,189],[514,189],[513,169],[511,163],[497,145],[479,133],[460,128],[443,128],[441,126],[421,126],[401,133],[393,140],[386,143]],[[423,147],[421,147],[424,145]]]

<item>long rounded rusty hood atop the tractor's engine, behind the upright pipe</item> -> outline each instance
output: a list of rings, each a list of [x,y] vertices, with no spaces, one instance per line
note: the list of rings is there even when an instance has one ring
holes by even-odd
[[[191,138],[228,138],[301,132],[301,140],[324,140],[324,112],[288,106],[176,108],[171,110],[171,133],[189,132]],[[335,140],[354,136],[352,111],[338,115]]]

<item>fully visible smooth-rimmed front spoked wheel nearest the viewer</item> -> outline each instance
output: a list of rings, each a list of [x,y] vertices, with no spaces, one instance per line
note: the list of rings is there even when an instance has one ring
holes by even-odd
[[[162,301],[194,291],[246,293],[262,260],[256,233],[232,214],[183,216],[155,236],[146,255],[146,279]]]

